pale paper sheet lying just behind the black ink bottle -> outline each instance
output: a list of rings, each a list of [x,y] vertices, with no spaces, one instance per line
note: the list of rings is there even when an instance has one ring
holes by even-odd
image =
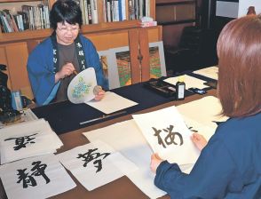
[[[178,76],[164,79],[164,81],[166,83],[175,85],[178,82]],[[189,89],[189,88],[203,89],[203,88],[208,87],[207,85],[204,85],[204,83],[206,83],[206,81],[203,81],[203,80],[198,79],[198,78],[193,77],[193,76],[186,76],[185,75],[184,76],[184,82],[186,84],[186,89]]]

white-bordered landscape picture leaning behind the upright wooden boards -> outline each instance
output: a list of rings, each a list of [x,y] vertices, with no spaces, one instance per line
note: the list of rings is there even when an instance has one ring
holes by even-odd
[[[150,78],[166,76],[166,66],[162,42],[149,44]],[[113,80],[109,88],[114,89],[131,84],[130,48],[129,46],[109,50],[108,66]]]

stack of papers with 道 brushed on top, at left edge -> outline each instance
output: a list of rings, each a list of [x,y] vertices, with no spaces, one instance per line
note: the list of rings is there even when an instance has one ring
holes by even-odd
[[[17,123],[0,130],[1,163],[55,153],[63,144],[44,119]]]

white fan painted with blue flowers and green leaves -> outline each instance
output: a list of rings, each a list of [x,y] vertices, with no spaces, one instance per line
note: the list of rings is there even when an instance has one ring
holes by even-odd
[[[68,100],[79,104],[94,99],[94,87],[97,85],[94,68],[87,68],[70,82],[67,89]]]

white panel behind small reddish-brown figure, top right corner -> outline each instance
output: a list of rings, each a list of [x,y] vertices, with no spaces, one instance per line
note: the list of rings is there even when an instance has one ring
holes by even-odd
[[[246,15],[249,6],[255,6],[257,14],[261,13],[261,0],[239,0],[238,17]]]

